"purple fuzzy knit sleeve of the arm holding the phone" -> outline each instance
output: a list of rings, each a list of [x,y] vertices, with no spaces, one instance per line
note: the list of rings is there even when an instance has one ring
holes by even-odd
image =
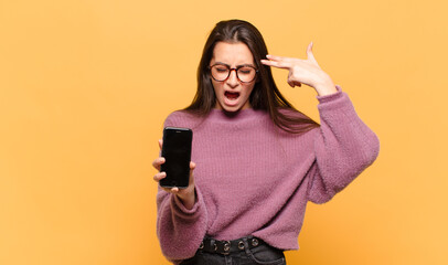
[[[188,127],[181,121],[178,115],[172,114],[164,126]],[[157,194],[157,235],[163,255],[175,264],[194,256],[205,236],[206,209],[198,186],[195,193],[196,202],[191,210],[186,209],[177,195],[160,187]]]

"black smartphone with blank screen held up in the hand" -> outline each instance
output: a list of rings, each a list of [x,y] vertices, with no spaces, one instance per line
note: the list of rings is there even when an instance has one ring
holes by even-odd
[[[164,163],[161,165],[160,171],[166,172],[167,177],[160,180],[161,187],[180,189],[189,187],[192,140],[193,131],[189,128],[163,129]]]

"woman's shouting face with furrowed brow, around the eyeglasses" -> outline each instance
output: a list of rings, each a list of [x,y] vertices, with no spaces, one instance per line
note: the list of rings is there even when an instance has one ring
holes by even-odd
[[[250,50],[243,42],[227,43],[218,42],[213,50],[213,57],[210,61],[210,66],[220,64],[225,70],[225,65],[230,68],[237,68],[238,66],[255,66],[254,56]],[[241,70],[239,77],[246,72]],[[211,77],[212,78],[212,77]],[[243,83],[236,76],[236,71],[231,71],[231,74],[225,81],[215,81],[212,78],[213,88],[216,96],[215,108],[224,109],[226,112],[237,112],[239,109],[249,108],[249,96],[254,88],[256,78],[249,83]]]

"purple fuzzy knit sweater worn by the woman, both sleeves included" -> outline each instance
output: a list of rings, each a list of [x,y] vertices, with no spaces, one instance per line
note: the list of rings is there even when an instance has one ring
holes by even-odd
[[[188,210],[159,189],[157,231],[173,263],[195,254],[204,235],[254,235],[297,250],[308,201],[323,203],[377,157],[378,139],[341,92],[318,96],[321,126],[302,135],[276,127],[263,110],[205,118],[174,112],[164,126],[193,129],[196,203]]]

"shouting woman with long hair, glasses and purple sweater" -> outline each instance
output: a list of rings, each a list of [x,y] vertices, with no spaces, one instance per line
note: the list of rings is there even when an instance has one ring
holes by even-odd
[[[157,195],[161,250],[174,264],[285,264],[307,202],[329,201],[375,160],[377,137],[319,67],[312,43],[307,54],[268,55],[246,21],[211,32],[192,104],[164,123],[194,135],[189,187],[159,186]],[[292,87],[316,89],[320,125],[280,94],[270,67],[289,71]]]

